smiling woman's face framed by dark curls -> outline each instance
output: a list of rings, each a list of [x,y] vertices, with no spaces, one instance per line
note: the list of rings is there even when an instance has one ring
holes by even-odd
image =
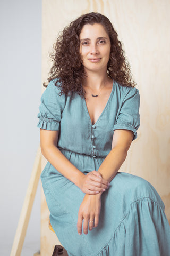
[[[86,71],[106,71],[111,41],[103,25],[86,24],[80,33],[80,53]]]

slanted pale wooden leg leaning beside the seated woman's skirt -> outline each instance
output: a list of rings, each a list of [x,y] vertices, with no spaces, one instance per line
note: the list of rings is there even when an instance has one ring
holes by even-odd
[[[40,174],[41,174],[41,149],[39,145],[35,162],[33,164],[33,169],[31,173],[31,178],[29,181],[27,193],[25,195],[24,203],[22,206],[22,211],[21,211],[19,222],[18,222],[18,227],[16,229],[10,256],[21,255],[22,246],[23,246],[25,234],[28,227],[28,222],[31,215],[33,201],[36,196]],[[39,255],[39,254],[36,253],[35,255]]]

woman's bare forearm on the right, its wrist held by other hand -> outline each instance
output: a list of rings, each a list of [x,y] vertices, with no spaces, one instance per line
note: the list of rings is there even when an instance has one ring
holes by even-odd
[[[98,172],[101,173],[103,179],[111,182],[125,161],[127,154],[128,151],[122,146],[115,146],[111,150],[98,169]]]

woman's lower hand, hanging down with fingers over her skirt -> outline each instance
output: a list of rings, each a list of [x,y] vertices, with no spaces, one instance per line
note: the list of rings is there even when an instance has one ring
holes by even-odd
[[[82,233],[82,223],[84,234],[88,234],[89,230],[92,230],[94,227],[98,226],[99,215],[101,209],[101,194],[97,195],[85,195],[83,201],[79,208],[78,213],[78,233]]]

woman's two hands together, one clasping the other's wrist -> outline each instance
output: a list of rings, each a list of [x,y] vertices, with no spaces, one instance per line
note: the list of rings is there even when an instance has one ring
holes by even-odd
[[[110,183],[97,171],[89,172],[81,179],[80,189],[86,195],[79,208],[77,229],[78,234],[88,234],[89,230],[98,226],[101,209],[101,194],[109,188]]]

